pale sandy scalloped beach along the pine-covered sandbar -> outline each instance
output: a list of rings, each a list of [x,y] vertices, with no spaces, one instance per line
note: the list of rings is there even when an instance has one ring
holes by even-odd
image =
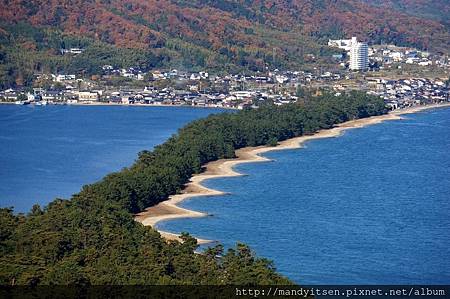
[[[156,229],[166,240],[180,240],[178,234],[159,230],[157,229],[156,225],[158,224],[158,222],[172,219],[210,216],[207,213],[189,210],[178,206],[178,204],[191,197],[217,196],[227,194],[225,192],[203,186],[203,181],[212,178],[242,176],[243,174],[233,169],[235,165],[241,163],[272,161],[271,159],[268,159],[264,156],[260,156],[261,154],[270,151],[299,149],[303,147],[305,142],[310,140],[339,137],[344,131],[349,129],[362,128],[369,125],[382,123],[387,120],[401,120],[404,119],[402,115],[405,114],[412,114],[433,108],[445,107],[450,107],[450,103],[414,106],[410,108],[394,110],[389,112],[388,114],[347,121],[338,124],[331,129],[320,130],[312,135],[303,135],[287,139],[279,142],[277,146],[257,146],[238,149],[235,151],[236,158],[220,159],[203,165],[205,171],[192,176],[189,182],[183,188],[182,193],[171,195],[169,196],[168,200],[160,202],[159,204],[149,207],[144,211],[136,214],[135,220],[142,223],[144,226],[151,226],[152,228]],[[214,243],[216,241],[197,238],[197,242],[198,244],[208,244]]]

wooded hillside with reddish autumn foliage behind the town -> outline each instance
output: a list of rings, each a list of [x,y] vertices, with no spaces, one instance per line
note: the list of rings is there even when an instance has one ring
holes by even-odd
[[[311,62],[306,54],[319,57],[315,64],[327,62],[334,51],[324,46],[327,39],[350,36],[448,52],[445,20],[411,15],[415,6],[397,9],[398,3],[411,1],[368,2],[1,0],[0,82],[26,84],[33,72],[98,73],[103,64],[223,71],[295,68]],[[448,10],[448,4],[442,7]],[[60,49],[70,47],[87,50],[61,57]]]

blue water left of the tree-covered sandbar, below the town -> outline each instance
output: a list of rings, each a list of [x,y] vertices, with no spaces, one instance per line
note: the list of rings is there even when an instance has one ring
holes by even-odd
[[[0,207],[27,212],[130,166],[188,122],[220,109],[0,105]]]

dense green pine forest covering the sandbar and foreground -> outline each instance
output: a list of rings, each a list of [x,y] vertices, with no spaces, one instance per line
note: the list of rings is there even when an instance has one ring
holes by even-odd
[[[386,113],[380,98],[324,94],[301,104],[211,115],[143,151],[129,168],[27,215],[0,209],[0,284],[289,284],[244,244],[195,254],[196,240],[166,242],[133,214],[179,192],[202,165],[348,120]]]

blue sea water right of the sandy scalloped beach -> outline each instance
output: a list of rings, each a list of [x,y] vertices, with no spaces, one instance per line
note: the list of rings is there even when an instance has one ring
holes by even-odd
[[[450,109],[406,116],[241,164],[230,192],[159,227],[249,244],[308,284],[450,284]]]

